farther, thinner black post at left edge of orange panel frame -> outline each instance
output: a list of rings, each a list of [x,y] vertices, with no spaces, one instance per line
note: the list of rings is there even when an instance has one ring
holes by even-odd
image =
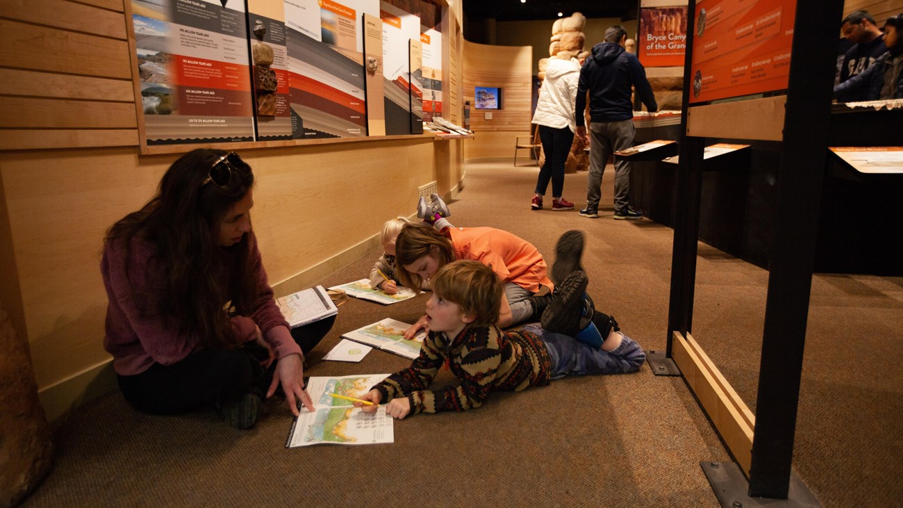
[[[696,251],[699,238],[699,206],[703,188],[703,139],[686,135],[687,105],[693,89],[693,39],[695,0],[687,6],[684,97],[677,165],[677,204],[674,247],[671,253],[671,296],[668,304],[666,358],[671,358],[672,332],[690,332],[696,283]],[[639,42],[638,42],[639,43]]]

